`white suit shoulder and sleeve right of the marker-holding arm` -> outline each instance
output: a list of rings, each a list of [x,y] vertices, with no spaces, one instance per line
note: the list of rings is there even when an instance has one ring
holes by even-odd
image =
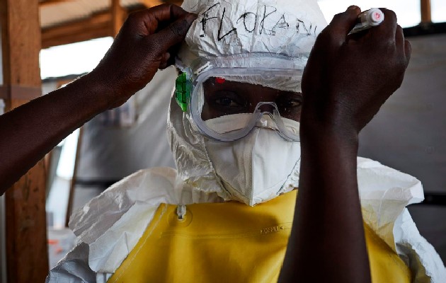
[[[413,282],[445,282],[446,268],[418,232],[406,206],[424,200],[415,177],[358,157],[358,187],[364,221],[406,262]]]

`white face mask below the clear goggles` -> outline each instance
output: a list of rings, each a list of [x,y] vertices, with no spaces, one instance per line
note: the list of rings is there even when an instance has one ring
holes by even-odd
[[[287,180],[300,166],[300,143],[274,129],[255,128],[231,142],[205,139],[205,146],[231,199],[253,206],[294,189]]]

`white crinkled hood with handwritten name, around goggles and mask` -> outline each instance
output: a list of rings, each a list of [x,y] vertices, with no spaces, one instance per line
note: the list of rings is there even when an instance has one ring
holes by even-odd
[[[176,67],[181,70],[190,68],[200,57],[234,54],[271,54],[271,64],[275,62],[275,54],[306,62],[316,36],[326,26],[315,0],[186,0],[182,8],[197,13],[198,19],[178,52]],[[224,200],[234,200],[234,194],[231,196],[225,189],[221,175],[216,173],[207,154],[206,138],[174,99],[169,110],[168,139],[178,174],[186,184],[205,193],[217,192]],[[299,164],[296,162],[295,166],[289,166],[278,193],[297,187]]]

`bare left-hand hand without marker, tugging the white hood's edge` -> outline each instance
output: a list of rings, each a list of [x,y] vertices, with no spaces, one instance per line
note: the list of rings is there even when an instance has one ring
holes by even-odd
[[[90,74],[107,86],[109,108],[124,103],[144,88],[158,69],[173,63],[176,47],[196,18],[172,4],[130,14],[110,50]]]

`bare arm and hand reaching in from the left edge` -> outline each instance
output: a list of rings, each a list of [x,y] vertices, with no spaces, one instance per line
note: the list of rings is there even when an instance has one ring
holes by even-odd
[[[0,116],[0,195],[59,141],[118,107],[173,62],[196,16],[164,4],[127,18],[90,74]]]

